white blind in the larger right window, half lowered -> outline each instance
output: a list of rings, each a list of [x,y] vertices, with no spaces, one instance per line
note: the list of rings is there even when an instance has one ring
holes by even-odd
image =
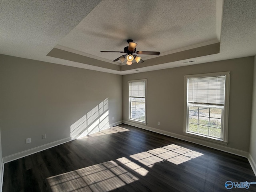
[[[226,76],[188,78],[188,103],[224,106]]]

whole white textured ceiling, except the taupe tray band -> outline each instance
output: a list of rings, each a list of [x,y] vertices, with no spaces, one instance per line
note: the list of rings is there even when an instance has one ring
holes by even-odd
[[[220,42],[220,53],[118,71],[46,56],[54,47],[112,62],[127,39],[160,56]],[[256,0],[2,0],[0,54],[130,74],[256,55]],[[160,56],[140,55],[143,60]],[[193,63],[183,63],[196,60]]]

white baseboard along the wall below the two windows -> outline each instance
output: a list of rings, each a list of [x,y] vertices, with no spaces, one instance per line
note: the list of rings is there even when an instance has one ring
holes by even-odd
[[[202,146],[217,149],[217,150],[220,150],[220,151],[235,154],[235,155],[238,155],[238,156],[248,157],[248,152],[246,152],[246,151],[242,151],[242,150],[239,150],[239,149],[223,146],[221,144],[212,143],[212,142],[208,142],[208,141],[205,141],[205,140],[200,140],[200,139],[197,139],[197,138],[192,138],[192,137],[189,137],[189,136],[184,136],[184,135],[180,135],[180,134],[176,134],[176,133],[172,133],[172,132],[168,132],[168,131],[148,127],[148,126],[145,126],[145,125],[142,125],[142,124],[136,124],[134,122],[123,121],[123,123],[131,125],[131,126],[135,126],[135,127],[138,127],[138,128],[142,128],[142,129],[145,129],[145,130],[149,130],[149,131],[152,131],[152,132],[160,133],[160,134],[163,134],[163,135],[171,136],[171,137],[181,139],[181,140],[184,140],[184,141],[199,144],[199,145],[202,145]]]

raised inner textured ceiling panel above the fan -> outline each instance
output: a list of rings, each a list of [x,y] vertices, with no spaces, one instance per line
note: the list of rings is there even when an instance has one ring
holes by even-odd
[[[216,39],[216,2],[104,0],[58,45],[111,62],[122,54],[100,50],[123,51],[127,39],[162,54]]]

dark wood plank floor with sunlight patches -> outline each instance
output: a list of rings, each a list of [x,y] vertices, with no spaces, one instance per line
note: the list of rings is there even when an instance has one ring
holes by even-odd
[[[3,192],[211,192],[256,181],[246,158],[119,127],[6,163]]]

